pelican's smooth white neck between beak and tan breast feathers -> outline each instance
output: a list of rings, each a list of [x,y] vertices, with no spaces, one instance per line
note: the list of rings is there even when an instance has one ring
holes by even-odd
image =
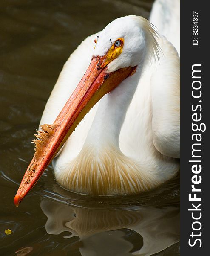
[[[96,149],[113,145],[119,149],[119,134],[141,72],[142,66],[139,65],[132,76],[126,78],[100,100],[85,145],[92,145]]]

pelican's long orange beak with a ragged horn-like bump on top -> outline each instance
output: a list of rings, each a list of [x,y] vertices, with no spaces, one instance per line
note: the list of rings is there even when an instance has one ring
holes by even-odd
[[[108,73],[106,56],[94,56],[92,58],[85,75],[57,116],[54,124],[42,125],[42,130],[38,131],[37,139],[33,141],[36,152],[14,198],[14,204],[17,207],[37,183],[48,164],[86,113],[106,93],[109,93],[126,77],[130,76],[135,69],[136,67],[127,67]]]

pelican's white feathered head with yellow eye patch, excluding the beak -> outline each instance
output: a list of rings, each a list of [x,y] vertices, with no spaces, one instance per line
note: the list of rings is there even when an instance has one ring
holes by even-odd
[[[145,58],[159,56],[153,26],[143,17],[130,15],[109,23],[95,42],[95,56],[106,58],[108,72],[143,64]]]

